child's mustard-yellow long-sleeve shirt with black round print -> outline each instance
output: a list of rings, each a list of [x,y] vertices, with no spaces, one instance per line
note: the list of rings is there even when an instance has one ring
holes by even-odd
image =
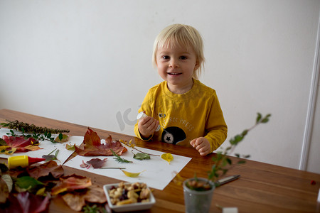
[[[228,127],[215,90],[198,80],[193,80],[193,87],[185,94],[170,92],[166,81],[157,84],[149,89],[140,111],[158,119],[161,126],[148,140],[191,147],[191,140],[204,136],[215,151],[227,138]],[[134,133],[142,139],[138,123]]]

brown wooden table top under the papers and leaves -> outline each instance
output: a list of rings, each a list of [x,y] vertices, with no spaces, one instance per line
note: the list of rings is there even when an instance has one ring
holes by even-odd
[[[84,136],[87,126],[71,124],[64,121],[47,119],[9,109],[0,109],[0,123],[9,121],[22,121],[36,126],[46,126],[55,129],[69,129],[71,136]],[[214,154],[202,157],[193,148],[179,147],[158,141],[144,142],[133,136],[115,133],[101,129],[90,128],[98,133],[101,138],[109,134],[112,139],[129,141],[134,139],[136,146],[183,155],[192,158],[179,173],[183,178],[193,178],[194,172],[198,177],[207,177],[207,171],[212,166],[211,158]],[[71,157],[72,158],[72,157]],[[1,158],[1,163],[6,159]],[[73,173],[87,176],[92,183],[105,185],[114,180],[102,175],[88,173],[83,170],[63,166],[65,175]],[[317,197],[320,187],[320,175],[277,165],[260,163],[247,160],[247,163],[233,165],[227,175],[241,175],[238,180],[229,182],[215,189],[210,212],[222,212],[216,205],[222,207],[238,207],[238,212],[320,212],[320,203]],[[316,183],[311,184],[314,180]],[[120,182],[120,180],[119,180]],[[184,212],[183,188],[170,182],[164,190],[153,191],[156,204],[144,212]],[[55,197],[50,202],[49,212],[73,212],[61,198]]]

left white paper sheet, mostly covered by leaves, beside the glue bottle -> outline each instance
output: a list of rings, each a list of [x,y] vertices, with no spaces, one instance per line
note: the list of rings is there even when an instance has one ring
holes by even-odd
[[[4,129],[4,128],[0,129],[1,138],[2,136],[6,135],[6,133],[9,133],[9,132],[10,132],[9,129]],[[14,131],[14,133],[21,134],[21,132],[18,132],[18,131]],[[53,135],[53,136],[56,137],[58,135]],[[40,141],[39,147],[41,149],[37,151],[28,151],[26,153],[14,153],[12,155],[0,154],[0,158],[9,158],[11,156],[16,156],[16,155],[28,155],[29,157],[32,157],[32,158],[41,158],[42,155],[48,155],[50,152],[56,149],[55,151],[59,150],[59,152],[57,155],[58,160],[55,160],[55,162],[57,162],[58,165],[62,165],[63,163],[65,163],[65,160],[67,160],[70,157],[70,155],[72,155],[74,152],[66,149],[65,145],[70,143],[71,145],[76,144],[80,146],[82,141],[83,141],[82,136],[70,136],[69,141],[65,143],[52,143],[51,141],[47,141],[47,140]],[[51,153],[51,155],[54,155],[55,151]],[[40,163],[44,163],[44,162],[40,162]]]

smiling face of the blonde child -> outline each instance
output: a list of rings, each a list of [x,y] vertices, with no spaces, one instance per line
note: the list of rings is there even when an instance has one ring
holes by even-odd
[[[196,53],[192,48],[165,45],[156,51],[156,67],[171,92],[183,94],[193,85],[193,72],[198,69]]]

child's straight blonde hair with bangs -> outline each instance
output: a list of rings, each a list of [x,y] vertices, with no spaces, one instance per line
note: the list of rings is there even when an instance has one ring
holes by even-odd
[[[156,67],[156,52],[158,48],[181,46],[183,48],[193,48],[196,53],[198,69],[193,72],[193,78],[198,79],[204,64],[203,40],[201,34],[192,26],[176,23],[164,28],[156,40],[154,40],[154,52],[152,54],[152,64]]]

